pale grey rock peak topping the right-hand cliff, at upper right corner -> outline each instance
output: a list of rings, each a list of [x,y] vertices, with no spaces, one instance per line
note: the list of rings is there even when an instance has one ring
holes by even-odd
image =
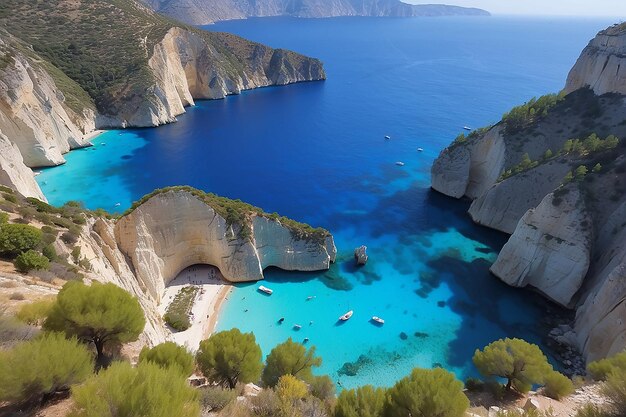
[[[567,77],[565,92],[589,87],[596,94],[626,94],[626,24],[598,34]]]

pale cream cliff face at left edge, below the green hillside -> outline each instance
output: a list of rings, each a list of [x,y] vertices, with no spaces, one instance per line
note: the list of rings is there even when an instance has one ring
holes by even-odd
[[[0,131],[19,148],[27,166],[62,164],[64,153],[87,144],[79,126],[89,123],[76,120],[93,118],[93,111],[87,108],[85,115],[70,117],[53,78],[19,52],[15,42],[0,36]]]

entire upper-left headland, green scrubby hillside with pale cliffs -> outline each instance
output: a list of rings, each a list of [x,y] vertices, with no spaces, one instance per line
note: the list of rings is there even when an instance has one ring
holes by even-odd
[[[195,99],[325,78],[319,60],[190,28],[134,0],[6,0],[0,28],[0,133],[22,158],[0,165],[0,181],[29,196],[42,197],[16,173],[64,163],[95,128],[158,126]]]

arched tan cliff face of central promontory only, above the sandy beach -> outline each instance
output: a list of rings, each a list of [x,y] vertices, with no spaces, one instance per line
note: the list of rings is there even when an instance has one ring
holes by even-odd
[[[229,225],[215,209],[187,191],[157,194],[118,220],[117,245],[147,292],[159,299],[164,286],[182,269],[195,264],[217,266],[233,282],[263,279],[263,270],[328,269],[336,249],[329,235],[323,242],[299,239],[280,221],[252,215],[250,236]]]

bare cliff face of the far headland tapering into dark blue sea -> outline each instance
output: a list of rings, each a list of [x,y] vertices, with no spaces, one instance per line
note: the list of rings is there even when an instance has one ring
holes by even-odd
[[[171,28],[148,60],[154,85],[144,97],[119,106],[116,115],[101,118],[100,127],[159,126],[176,121],[195,99],[326,78],[317,59],[251,42],[249,51],[233,59],[231,44],[247,42],[228,34]]]

